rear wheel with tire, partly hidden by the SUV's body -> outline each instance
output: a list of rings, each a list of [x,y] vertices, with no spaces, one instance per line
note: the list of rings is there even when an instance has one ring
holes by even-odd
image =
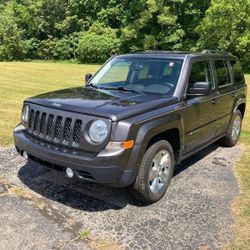
[[[226,147],[233,147],[237,144],[240,138],[242,127],[242,114],[240,110],[236,110],[234,113],[231,124],[224,138],[220,140],[220,144]]]

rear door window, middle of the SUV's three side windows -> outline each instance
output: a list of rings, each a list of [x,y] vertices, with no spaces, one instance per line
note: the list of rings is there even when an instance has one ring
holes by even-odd
[[[230,73],[227,61],[215,61],[215,69],[217,74],[218,86],[223,87],[231,84]]]

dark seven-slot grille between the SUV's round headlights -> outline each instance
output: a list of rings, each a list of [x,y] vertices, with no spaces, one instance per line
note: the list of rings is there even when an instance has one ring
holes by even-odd
[[[82,120],[31,109],[28,132],[46,141],[79,147]]]

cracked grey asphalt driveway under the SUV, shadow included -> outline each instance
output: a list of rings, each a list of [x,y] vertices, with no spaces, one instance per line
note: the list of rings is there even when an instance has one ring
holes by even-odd
[[[142,206],[126,189],[70,180],[27,163],[13,148],[0,150],[5,179],[0,186],[0,246],[221,249],[234,238],[230,204],[239,190],[233,164],[242,155],[239,145],[206,148],[176,168],[163,200]],[[25,195],[18,194],[18,187]]]

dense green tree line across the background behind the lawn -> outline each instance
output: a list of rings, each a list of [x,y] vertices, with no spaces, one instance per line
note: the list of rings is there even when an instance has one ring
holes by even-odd
[[[147,49],[250,59],[250,0],[0,0],[0,60],[103,62]]]

